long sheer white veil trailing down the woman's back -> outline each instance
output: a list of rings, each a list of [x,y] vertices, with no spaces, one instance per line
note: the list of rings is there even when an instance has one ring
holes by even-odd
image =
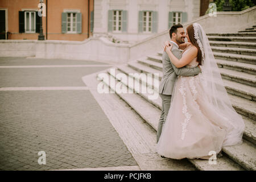
[[[193,23],[193,28],[195,30],[195,38],[202,51],[201,79],[204,82],[204,92],[207,94],[209,104],[213,106],[214,112],[221,115],[222,122],[227,122],[229,126],[223,146],[241,144],[245,123],[241,115],[234,110],[229,100],[203,27],[199,23]]]

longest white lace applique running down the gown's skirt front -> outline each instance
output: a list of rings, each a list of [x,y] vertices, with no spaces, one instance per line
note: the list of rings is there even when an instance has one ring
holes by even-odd
[[[188,113],[188,110],[187,110],[188,107],[186,102],[186,88],[184,86],[184,81],[185,81],[185,78],[181,77],[181,85],[180,85],[179,91],[181,93],[181,96],[183,97],[182,113],[185,115],[184,122],[181,123],[181,126],[182,126],[181,140],[184,140],[185,138],[185,133],[188,131],[187,125],[192,116],[191,114]]]

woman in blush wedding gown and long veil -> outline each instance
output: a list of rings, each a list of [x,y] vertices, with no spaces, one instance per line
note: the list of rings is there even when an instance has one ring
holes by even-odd
[[[172,93],[171,107],[156,146],[158,154],[172,159],[208,159],[210,151],[242,143],[245,124],[230,103],[220,71],[203,28],[198,23],[187,27],[190,44],[181,59],[166,46],[177,67],[196,67],[197,76],[179,76]]]

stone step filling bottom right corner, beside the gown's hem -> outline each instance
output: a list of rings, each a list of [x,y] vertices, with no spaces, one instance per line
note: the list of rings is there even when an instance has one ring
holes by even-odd
[[[223,147],[222,151],[246,170],[256,170],[256,146],[253,143],[243,140],[241,145]]]

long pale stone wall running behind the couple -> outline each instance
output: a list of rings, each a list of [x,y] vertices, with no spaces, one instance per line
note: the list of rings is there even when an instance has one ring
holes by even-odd
[[[200,23],[207,33],[237,32],[256,25],[256,6],[241,12],[219,12],[216,17],[201,16],[191,23]],[[82,42],[59,40],[0,40],[0,56],[35,56],[46,59],[100,60],[127,63],[162,50],[169,40],[168,30],[135,44],[112,43],[105,37],[89,38]]]

